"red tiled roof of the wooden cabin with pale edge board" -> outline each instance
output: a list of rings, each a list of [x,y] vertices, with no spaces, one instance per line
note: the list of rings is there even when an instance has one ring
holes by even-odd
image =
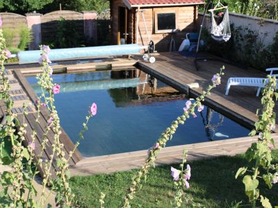
[[[204,3],[204,0],[123,0],[128,8],[155,6],[187,6]]]

